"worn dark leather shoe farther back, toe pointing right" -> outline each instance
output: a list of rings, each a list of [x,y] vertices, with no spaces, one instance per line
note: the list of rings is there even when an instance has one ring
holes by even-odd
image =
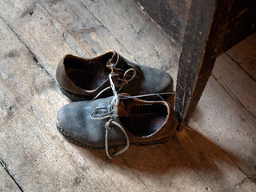
[[[56,79],[62,93],[72,101],[113,95],[110,76],[118,93],[156,94],[173,90],[173,79],[163,70],[141,66],[108,51],[96,58],[67,54],[58,63]]]

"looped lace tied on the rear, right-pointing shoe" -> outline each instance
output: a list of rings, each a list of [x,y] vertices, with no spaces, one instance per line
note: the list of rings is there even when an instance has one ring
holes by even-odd
[[[118,63],[118,60],[119,60],[119,55],[117,55],[118,58],[117,58],[117,61],[115,63]],[[114,83],[114,86],[118,88],[118,91],[117,93],[119,93],[121,90],[122,90],[122,87],[127,85],[130,81],[132,81],[135,76],[136,76],[136,70],[134,68],[130,68],[128,70],[126,70],[126,72],[122,75],[122,78],[118,78],[119,74],[115,74],[114,73],[114,65],[110,63],[110,65],[108,65],[108,67],[110,68],[111,70],[111,73],[109,74],[109,78],[111,76],[111,80],[113,82],[113,79],[112,78],[116,78],[116,82],[113,82]],[[130,72],[133,72],[133,75],[131,77],[129,77],[129,73]],[[121,82],[121,83],[118,83],[118,82]],[[94,98],[92,98],[92,100],[95,100],[96,98],[98,98],[101,94],[103,94],[106,90],[109,90],[111,88],[111,83],[110,83],[110,86],[106,87],[104,90],[101,90]],[[113,90],[113,89],[112,89]]]

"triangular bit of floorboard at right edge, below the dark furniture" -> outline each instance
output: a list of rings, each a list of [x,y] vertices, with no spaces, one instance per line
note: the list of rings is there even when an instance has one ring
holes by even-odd
[[[256,80],[256,34],[250,35],[226,53]]]

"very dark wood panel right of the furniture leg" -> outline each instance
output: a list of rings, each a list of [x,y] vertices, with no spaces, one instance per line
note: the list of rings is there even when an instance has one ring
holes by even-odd
[[[256,31],[256,1],[217,0],[215,7],[206,50],[218,57]]]

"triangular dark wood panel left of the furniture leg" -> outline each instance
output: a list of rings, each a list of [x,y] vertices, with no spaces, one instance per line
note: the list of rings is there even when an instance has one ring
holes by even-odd
[[[135,2],[138,2],[171,38],[182,45],[191,0],[135,0]]]

